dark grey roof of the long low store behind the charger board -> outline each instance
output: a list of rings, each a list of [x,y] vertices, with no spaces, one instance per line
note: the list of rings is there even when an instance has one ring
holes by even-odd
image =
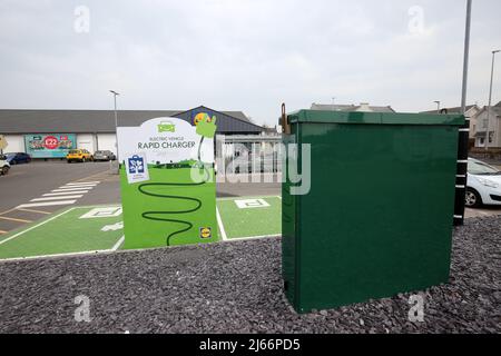
[[[263,131],[242,111],[216,111],[206,107],[191,110],[118,110],[118,126],[140,126],[159,117],[178,117],[190,121],[193,111],[214,112],[220,134],[258,134]],[[115,132],[114,110],[23,110],[0,109],[0,134],[104,134]]]

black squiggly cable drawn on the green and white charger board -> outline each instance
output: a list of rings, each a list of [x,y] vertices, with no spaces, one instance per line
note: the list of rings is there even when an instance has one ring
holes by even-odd
[[[143,212],[143,215],[141,215],[143,218],[148,219],[148,220],[175,222],[175,224],[181,224],[185,226],[185,228],[176,230],[176,231],[169,234],[169,236],[167,236],[167,240],[166,240],[167,246],[170,246],[170,239],[174,236],[189,231],[193,228],[193,224],[189,221],[186,221],[186,220],[169,219],[169,218],[163,217],[163,216],[170,215],[170,214],[195,212],[202,208],[202,200],[197,199],[197,198],[190,198],[190,197],[184,197],[184,196],[171,196],[171,195],[150,192],[150,191],[147,191],[146,189],[154,188],[154,187],[197,187],[197,186],[203,186],[203,185],[207,184],[207,181],[210,178],[209,177],[210,175],[209,175],[209,171],[207,170],[206,165],[204,165],[202,162],[202,158],[200,158],[203,142],[204,142],[204,137],[202,137],[200,142],[198,145],[198,165],[202,165],[202,167],[205,171],[206,177],[204,180],[202,180],[200,182],[151,182],[151,184],[143,184],[143,185],[138,186],[138,190],[146,196],[164,198],[164,199],[186,200],[186,201],[193,201],[196,204],[196,206],[194,208],[186,209],[186,210],[161,210],[161,211],[145,211],[145,212]]]

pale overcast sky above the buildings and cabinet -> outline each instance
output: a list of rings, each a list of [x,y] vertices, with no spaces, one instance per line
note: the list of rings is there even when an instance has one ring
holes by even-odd
[[[465,0],[0,0],[1,109],[461,103]],[[489,98],[501,1],[473,0],[468,102]],[[501,100],[501,53],[493,103]],[[333,99],[335,98],[335,99]]]

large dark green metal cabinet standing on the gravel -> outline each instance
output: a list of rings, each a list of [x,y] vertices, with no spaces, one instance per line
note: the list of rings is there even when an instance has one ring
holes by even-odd
[[[283,277],[298,313],[449,280],[460,115],[302,110],[282,186]],[[296,146],[291,146],[296,145]],[[291,180],[307,168],[311,187]],[[291,170],[291,168],[293,168]],[[306,185],[307,186],[307,185]]]

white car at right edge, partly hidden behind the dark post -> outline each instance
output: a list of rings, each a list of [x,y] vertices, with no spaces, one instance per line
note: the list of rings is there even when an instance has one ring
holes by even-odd
[[[468,160],[466,207],[501,205],[501,171],[478,159]]]

